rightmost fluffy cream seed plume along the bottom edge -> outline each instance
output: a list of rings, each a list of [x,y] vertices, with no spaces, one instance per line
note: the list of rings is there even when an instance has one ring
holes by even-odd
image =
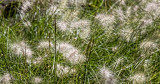
[[[146,80],[146,77],[143,73],[138,73],[131,77],[131,80],[133,81],[133,84],[143,84]]]

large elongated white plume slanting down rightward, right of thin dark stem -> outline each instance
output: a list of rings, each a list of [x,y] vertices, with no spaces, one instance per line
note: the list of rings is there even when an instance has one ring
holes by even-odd
[[[86,57],[71,44],[61,42],[57,45],[57,50],[72,64],[79,64],[86,60]]]

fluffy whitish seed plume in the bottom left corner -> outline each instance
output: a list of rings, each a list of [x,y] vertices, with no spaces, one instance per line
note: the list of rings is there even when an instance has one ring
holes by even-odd
[[[5,73],[2,78],[0,78],[0,84],[10,84],[12,76],[9,73]]]

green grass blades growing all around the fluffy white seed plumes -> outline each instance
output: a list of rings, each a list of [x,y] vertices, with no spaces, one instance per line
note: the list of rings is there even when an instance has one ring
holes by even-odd
[[[19,17],[0,17],[0,78],[4,73],[10,73],[13,76],[13,84],[31,84],[33,83],[33,77],[36,76],[43,79],[42,84],[101,84],[99,69],[106,66],[113,72],[118,81],[117,84],[132,84],[132,81],[128,78],[136,73],[145,74],[146,81],[144,84],[160,83],[160,50],[158,49],[153,54],[142,57],[140,56],[142,51],[139,48],[140,43],[145,39],[157,39],[157,43],[160,43],[159,38],[154,35],[157,31],[159,34],[160,19],[156,19],[152,25],[148,26],[147,33],[144,35],[137,32],[141,31],[137,29],[139,24],[133,22],[132,19],[127,20],[123,26],[119,26],[121,22],[115,23],[114,33],[108,35],[105,28],[94,18],[96,14],[107,11],[112,6],[113,2],[108,1],[109,3],[103,2],[103,0],[92,0],[91,7],[80,10],[78,17],[91,21],[91,33],[86,39],[80,38],[77,35],[78,31],[68,33],[60,31],[57,26],[55,28],[55,18],[60,20],[62,17],[46,15],[45,10],[37,8],[39,4],[28,12],[29,15],[24,20],[20,20]],[[130,3],[128,5],[132,5]],[[74,9],[66,9],[66,11]],[[142,17],[138,16],[137,18]],[[30,21],[32,26],[25,27],[23,25],[25,20]],[[136,41],[127,42],[117,34],[126,25],[136,31],[135,35],[139,35]],[[39,42],[43,40],[49,40],[53,44],[59,41],[68,42],[78,48],[80,53],[87,57],[87,61],[72,65],[59,52],[56,53],[55,59],[55,48],[37,48]],[[13,43],[20,41],[25,41],[31,47],[34,52],[33,59],[44,56],[46,53],[48,57],[38,65],[26,63],[25,56],[17,56],[10,49]],[[118,46],[118,50],[113,52],[112,47],[115,46]],[[123,58],[123,62],[116,66],[114,63],[118,58]],[[57,77],[54,72],[56,69],[53,70],[54,60],[56,64],[60,63],[75,68],[77,72],[63,78]],[[143,66],[145,60],[150,60],[147,69]]]

